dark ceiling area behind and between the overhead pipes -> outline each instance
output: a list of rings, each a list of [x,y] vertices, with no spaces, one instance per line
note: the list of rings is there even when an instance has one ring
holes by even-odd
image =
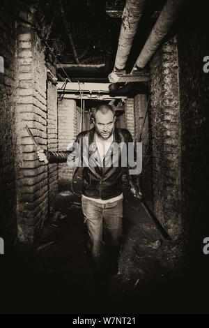
[[[90,80],[93,77],[107,78],[114,68],[125,0],[56,0],[39,1],[39,3],[40,10],[42,7],[45,9],[47,7],[45,11],[45,21],[49,27],[47,43],[61,64],[104,65],[95,70],[88,67],[66,68],[65,66],[70,78],[86,77],[88,79],[89,77]],[[150,33],[156,19],[155,13],[162,9],[164,3],[165,0],[147,1],[127,61],[127,72],[131,70],[148,33]],[[63,6],[64,14],[61,6]],[[59,69],[59,74],[65,77],[61,69]]]

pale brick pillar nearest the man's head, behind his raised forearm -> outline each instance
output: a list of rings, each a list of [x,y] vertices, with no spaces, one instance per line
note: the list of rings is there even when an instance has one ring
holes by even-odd
[[[59,100],[58,103],[58,128],[59,150],[67,150],[70,142],[74,142],[77,133],[76,127],[76,102],[73,99]],[[67,163],[59,164],[59,190],[69,190],[73,168]]]

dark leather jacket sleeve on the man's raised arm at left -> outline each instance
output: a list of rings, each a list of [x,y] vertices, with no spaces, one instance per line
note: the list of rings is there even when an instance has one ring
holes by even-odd
[[[75,142],[73,142],[72,147],[69,150],[61,150],[61,151],[45,151],[45,155],[47,156],[47,160],[49,163],[66,163],[68,159],[73,161],[73,157],[77,156],[77,144],[79,144],[80,135],[77,135]]]

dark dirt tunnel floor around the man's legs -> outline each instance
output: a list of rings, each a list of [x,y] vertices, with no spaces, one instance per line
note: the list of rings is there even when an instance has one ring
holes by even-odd
[[[199,286],[194,283],[196,273],[190,278],[183,273],[181,241],[164,241],[127,188],[123,201],[117,275],[95,277],[79,197],[62,192],[39,239],[27,248],[17,245],[5,257],[1,313],[196,311]]]

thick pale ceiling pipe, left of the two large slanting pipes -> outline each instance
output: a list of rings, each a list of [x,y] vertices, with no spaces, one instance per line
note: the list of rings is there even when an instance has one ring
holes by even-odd
[[[114,64],[115,70],[123,70],[125,68],[145,4],[146,0],[126,0]]]

